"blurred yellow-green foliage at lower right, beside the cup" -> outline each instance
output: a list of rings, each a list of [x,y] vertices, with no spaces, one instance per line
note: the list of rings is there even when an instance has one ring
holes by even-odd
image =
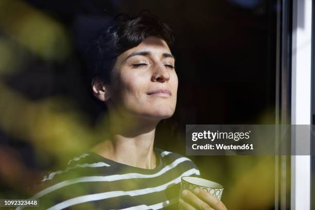
[[[257,125],[272,124],[273,109],[258,115]],[[202,177],[223,185],[222,202],[228,209],[272,209],[275,156],[197,156]]]

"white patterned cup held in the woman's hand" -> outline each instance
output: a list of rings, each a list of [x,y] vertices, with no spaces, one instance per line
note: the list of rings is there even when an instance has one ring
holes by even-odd
[[[193,191],[197,187],[206,190],[209,194],[212,194],[221,200],[224,189],[223,186],[216,182],[198,177],[182,177],[180,195],[184,189]]]

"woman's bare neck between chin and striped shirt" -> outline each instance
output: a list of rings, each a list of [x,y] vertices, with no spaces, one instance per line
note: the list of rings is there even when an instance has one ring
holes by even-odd
[[[155,168],[153,145],[155,127],[159,121],[126,116],[110,115],[110,137],[97,144],[92,151],[118,163]]]

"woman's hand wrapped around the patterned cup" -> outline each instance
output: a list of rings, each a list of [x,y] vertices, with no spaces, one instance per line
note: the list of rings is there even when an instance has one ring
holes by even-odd
[[[194,193],[185,189],[179,199],[180,209],[185,210],[226,210],[225,205],[214,195],[198,187]]]

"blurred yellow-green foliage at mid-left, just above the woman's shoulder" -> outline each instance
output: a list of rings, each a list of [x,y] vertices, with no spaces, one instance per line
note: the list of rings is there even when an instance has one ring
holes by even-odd
[[[36,151],[58,154],[61,161],[66,154],[77,154],[91,146],[94,133],[85,125],[82,113],[75,109],[65,113],[58,111],[69,103],[67,100],[51,97],[32,102],[4,85],[0,86],[0,94],[2,129],[31,141]]]

